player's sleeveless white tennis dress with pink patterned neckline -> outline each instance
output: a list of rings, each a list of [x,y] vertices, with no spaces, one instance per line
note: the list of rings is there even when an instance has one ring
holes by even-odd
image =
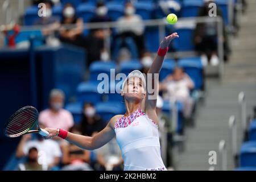
[[[160,152],[158,126],[141,110],[115,123],[125,171],[166,171]]]

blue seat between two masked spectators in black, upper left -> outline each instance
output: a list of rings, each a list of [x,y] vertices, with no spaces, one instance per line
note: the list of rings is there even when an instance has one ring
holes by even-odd
[[[96,7],[92,3],[81,3],[77,6],[77,16],[82,18],[84,22],[89,22],[95,14]]]

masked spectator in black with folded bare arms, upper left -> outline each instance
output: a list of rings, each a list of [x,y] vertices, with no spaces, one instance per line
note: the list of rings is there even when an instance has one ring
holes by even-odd
[[[75,46],[84,47],[85,38],[82,36],[84,23],[81,18],[76,17],[75,7],[71,3],[64,6],[60,28],[60,41]],[[71,26],[71,27],[65,27]]]

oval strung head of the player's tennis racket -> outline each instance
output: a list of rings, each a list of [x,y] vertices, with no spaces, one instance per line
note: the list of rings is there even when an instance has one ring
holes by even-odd
[[[37,117],[38,112],[34,109],[20,111],[10,119],[9,124],[6,127],[6,133],[10,135],[10,137],[16,137],[27,133],[27,131],[34,125]]]

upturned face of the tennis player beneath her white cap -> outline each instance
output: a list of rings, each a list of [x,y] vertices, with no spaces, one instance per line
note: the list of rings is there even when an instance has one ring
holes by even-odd
[[[146,90],[144,90],[142,79],[139,77],[129,78],[123,90],[123,95],[127,98],[142,100],[146,96]]]

